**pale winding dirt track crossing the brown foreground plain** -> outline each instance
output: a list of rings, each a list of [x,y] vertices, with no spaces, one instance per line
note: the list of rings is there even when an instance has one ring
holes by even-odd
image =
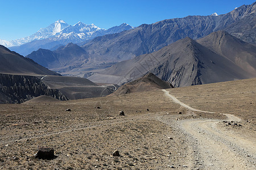
[[[182,103],[168,91],[162,90],[164,94],[175,103],[182,105],[191,111],[200,111]],[[217,114],[217,113],[216,113]],[[240,118],[231,114],[225,114],[228,121],[241,121]],[[161,120],[160,120],[161,121]],[[173,122],[162,121],[166,124]],[[221,120],[212,119],[187,119],[176,121],[176,128],[181,130],[187,137],[193,148],[192,169],[256,169],[256,142],[250,138],[243,138],[229,131],[217,128]]]

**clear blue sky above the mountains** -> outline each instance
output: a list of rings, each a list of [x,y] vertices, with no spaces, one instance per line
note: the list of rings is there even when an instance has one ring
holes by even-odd
[[[172,1],[172,0],[0,0],[0,39],[30,36],[58,19],[68,24],[81,21],[108,29],[127,23],[139,26],[188,15],[226,14],[250,0]]]

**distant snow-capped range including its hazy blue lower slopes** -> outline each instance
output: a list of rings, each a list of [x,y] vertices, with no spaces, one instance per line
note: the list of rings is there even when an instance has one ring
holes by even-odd
[[[109,29],[102,29],[94,24],[88,25],[79,22],[75,25],[69,25],[64,20],[57,20],[46,28],[40,28],[38,32],[31,36],[11,41],[0,40],[0,44],[26,56],[39,48],[52,49],[55,46],[66,45],[69,42],[85,42],[97,36],[129,29],[133,29],[133,27],[126,23]]]

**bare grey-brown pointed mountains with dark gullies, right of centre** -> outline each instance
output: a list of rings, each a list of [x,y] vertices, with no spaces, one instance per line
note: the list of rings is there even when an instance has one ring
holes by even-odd
[[[210,48],[210,45],[216,46]],[[175,87],[183,87],[254,78],[255,48],[227,32],[218,31],[198,42],[186,37],[154,53],[119,62],[88,79],[122,84],[151,72]],[[237,49],[243,55],[238,53],[233,56],[236,51],[229,54],[232,49]]]

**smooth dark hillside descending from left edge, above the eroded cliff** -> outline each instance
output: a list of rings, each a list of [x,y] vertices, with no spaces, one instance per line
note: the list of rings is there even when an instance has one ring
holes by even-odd
[[[30,58],[11,52],[5,46],[0,45],[0,73],[27,74],[27,75],[59,75],[48,70]]]

